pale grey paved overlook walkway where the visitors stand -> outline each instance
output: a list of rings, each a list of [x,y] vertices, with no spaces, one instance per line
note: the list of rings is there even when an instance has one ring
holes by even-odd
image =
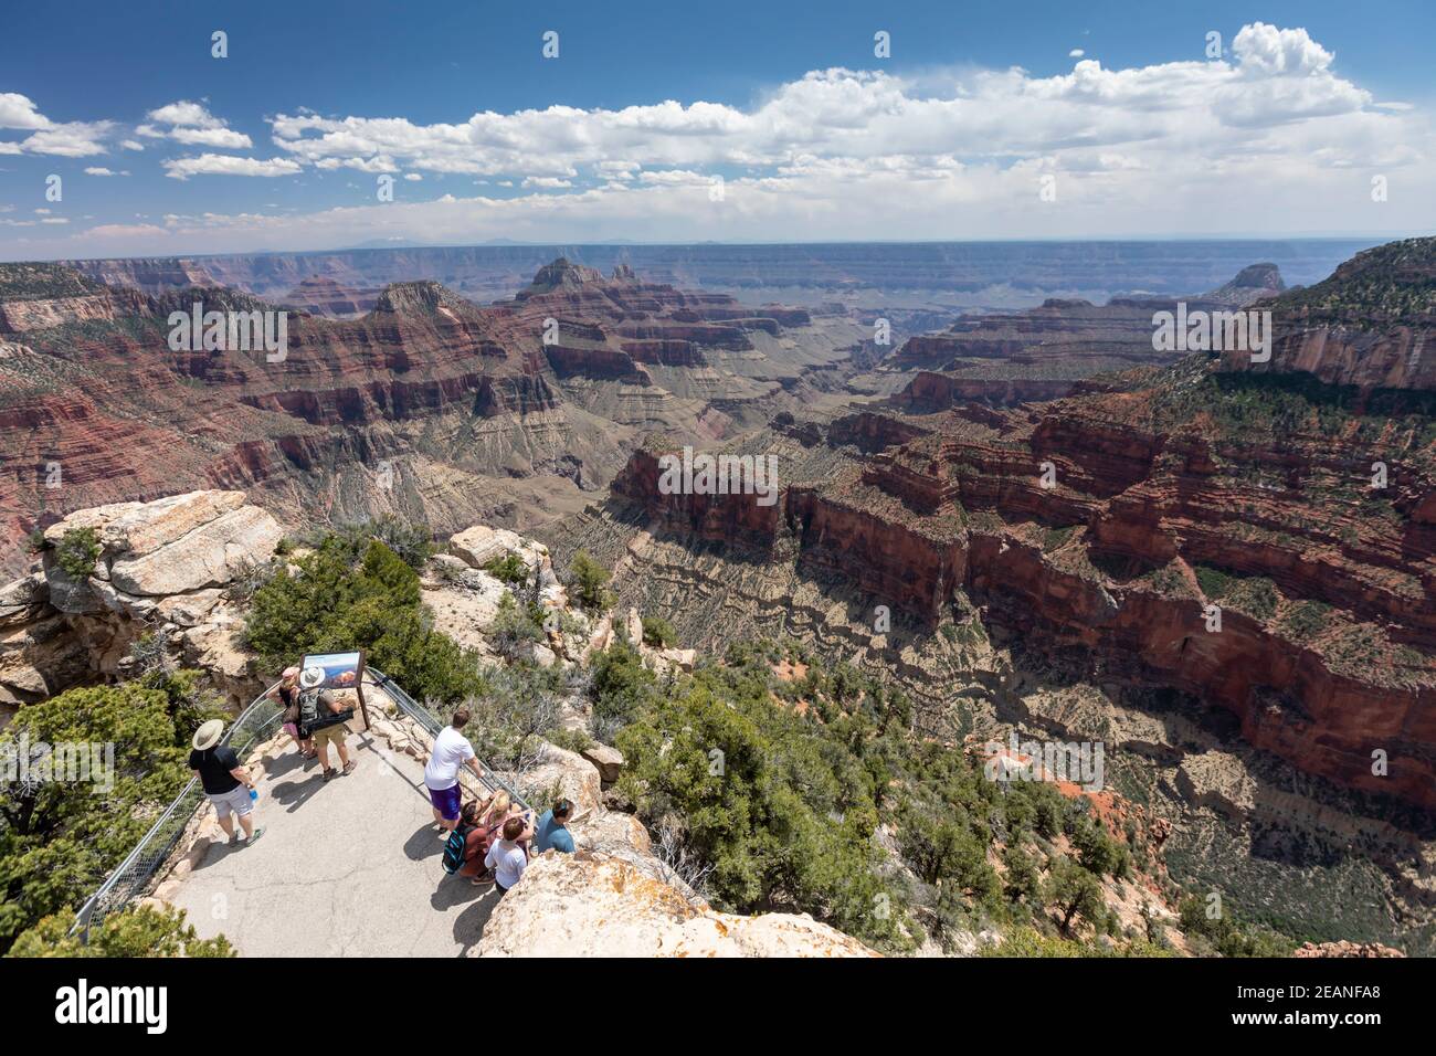
[[[349,750],[355,772],[327,784],[293,747],[269,763],[264,838],[211,846],[172,899],[200,935],[247,957],[460,957],[478,942],[497,892],[441,868],[424,767],[368,733]]]

